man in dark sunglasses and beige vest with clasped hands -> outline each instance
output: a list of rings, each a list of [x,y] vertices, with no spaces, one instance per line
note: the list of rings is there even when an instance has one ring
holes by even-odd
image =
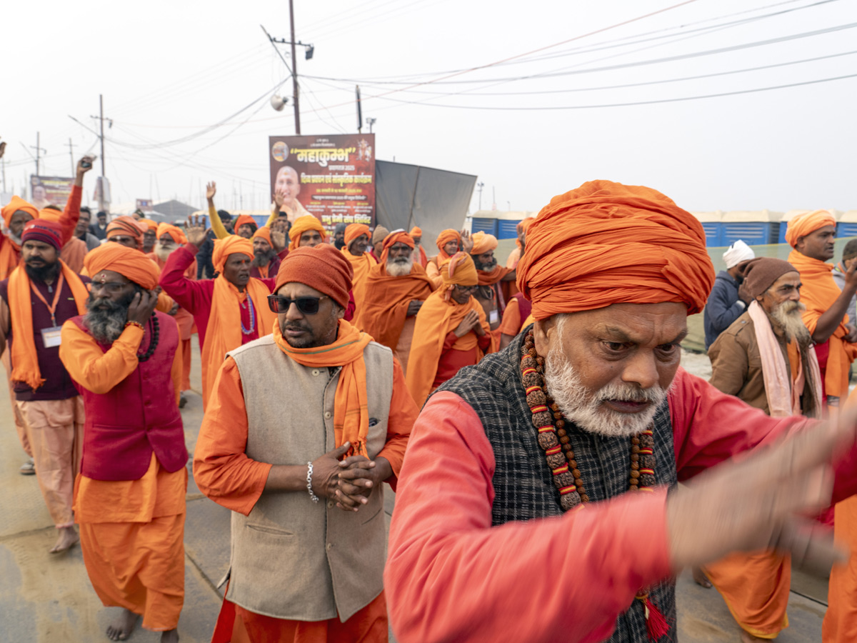
[[[196,484],[232,511],[213,643],[387,641],[381,483],[417,406],[390,349],[343,318],[349,291],[333,245],[293,250],[268,297],[273,335],[220,368],[194,454]]]

